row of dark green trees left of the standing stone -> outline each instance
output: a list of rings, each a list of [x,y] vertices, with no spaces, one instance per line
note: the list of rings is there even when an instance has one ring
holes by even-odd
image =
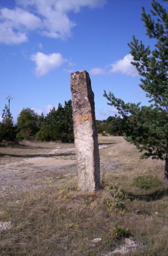
[[[64,107],[59,103],[58,108],[50,109],[47,116],[39,116],[31,108],[23,108],[14,125],[13,117],[7,105],[3,109],[0,122],[0,141],[55,141],[73,142],[72,102],[65,101]]]

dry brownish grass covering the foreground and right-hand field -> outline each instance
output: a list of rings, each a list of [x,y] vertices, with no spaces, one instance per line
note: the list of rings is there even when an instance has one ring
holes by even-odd
[[[99,143],[112,143],[100,150],[101,161],[117,162],[122,169],[118,172],[117,165],[116,169],[105,171],[107,183],[117,182],[115,191],[122,186],[122,191],[129,195],[120,200],[119,208],[109,211],[107,204],[107,198],[114,202],[117,192],[81,193],[77,191],[76,176],[59,179],[59,183],[46,188],[11,194],[1,199],[0,221],[11,221],[12,228],[0,231],[0,255],[101,256],[123,243],[122,238],[112,238],[110,233],[119,226],[128,229],[133,239],[143,244],[127,256],[168,255],[164,162],[139,159],[138,150],[122,137],[99,136]],[[38,145],[52,146],[52,143]],[[135,177],[148,175],[160,183],[154,182],[150,188],[135,185]],[[124,215],[120,207],[125,210]],[[140,212],[135,214],[135,210]],[[102,241],[92,247],[94,238]]]

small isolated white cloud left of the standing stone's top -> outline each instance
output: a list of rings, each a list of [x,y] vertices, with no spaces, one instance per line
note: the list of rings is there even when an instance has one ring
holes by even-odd
[[[43,76],[49,71],[59,68],[64,62],[67,62],[60,53],[45,55],[42,52],[36,52],[36,54],[30,56],[30,59],[35,61],[36,68],[34,73],[36,76]]]

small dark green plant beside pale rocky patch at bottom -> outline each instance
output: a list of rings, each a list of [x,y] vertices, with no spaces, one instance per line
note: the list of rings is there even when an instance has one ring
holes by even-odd
[[[120,239],[122,237],[129,237],[131,235],[131,232],[127,228],[124,228],[120,225],[118,227],[112,226],[109,232],[110,232],[109,238]]]

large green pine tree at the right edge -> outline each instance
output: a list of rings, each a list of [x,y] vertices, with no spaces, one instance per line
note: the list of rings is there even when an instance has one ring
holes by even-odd
[[[163,0],[167,1],[167,0]],[[168,13],[154,0],[151,10],[154,18],[146,14],[142,8],[142,19],[146,27],[146,34],[150,39],[155,39],[155,49],[145,47],[142,41],[138,42],[133,36],[133,41],[128,45],[133,56],[131,62],[138,70],[140,87],[146,92],[149,107],[140,103],[127,103],[109,95],[104,91],[104,97],[114,105],[119,114],[125,118],[126,138],[134,143],[140,151],[147,152],[142,157],[165,160],[164,183],[168,185]]]

